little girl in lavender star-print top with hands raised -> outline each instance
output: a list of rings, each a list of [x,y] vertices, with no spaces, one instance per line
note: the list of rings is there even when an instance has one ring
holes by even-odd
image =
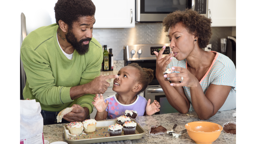
[[[143,92],[153,79],[153,70],[142,68],[137,63],[131,63],[121,68],[118,78],[114,79],[113,91],[115,95],[103,100],[98,94],[93,98],[92,104],[97,109],[95,120],[113,119],[124,114],[125,110],[135,110],[138,116],[152,115],[160,111],[160,104],[156,100],[150,104],[143,96]]]

